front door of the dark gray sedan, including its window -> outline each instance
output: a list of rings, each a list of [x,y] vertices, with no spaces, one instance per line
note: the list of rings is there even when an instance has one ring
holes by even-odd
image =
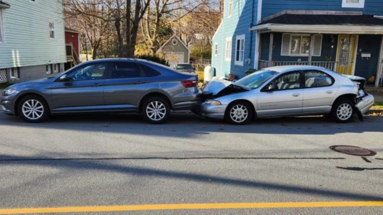
[[[104,106],[104,78],[108,63],[89,63],[65,73],[52,85],[54,111],[97,110]]]

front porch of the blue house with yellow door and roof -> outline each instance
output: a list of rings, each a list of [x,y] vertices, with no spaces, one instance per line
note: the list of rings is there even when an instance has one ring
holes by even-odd
[[[318,16],[345,23],[325,25]],[[361,22],[373,22],[373,26]],[[251,29],[257,30],[258,69],[312,65],[364,77],[377,87],[382,85],[383,19],[358,14],[282,14]]]

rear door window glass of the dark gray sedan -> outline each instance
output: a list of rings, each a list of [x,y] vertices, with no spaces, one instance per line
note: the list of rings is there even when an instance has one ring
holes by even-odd
[[[140,67],[133,62],[113,62],[111,68],[112,79],[144,77]]]

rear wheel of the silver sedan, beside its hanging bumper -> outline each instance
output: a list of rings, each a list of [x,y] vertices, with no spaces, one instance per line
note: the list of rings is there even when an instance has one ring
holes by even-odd
[[[350,100],[337,101],[332,108],[331,114],[339,123],[349,122],[355,113],[354,103]]]

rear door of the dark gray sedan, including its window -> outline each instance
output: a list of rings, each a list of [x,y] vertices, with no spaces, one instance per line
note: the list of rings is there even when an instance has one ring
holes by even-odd
[[[131,61],[111,62],[110,78],[105,82],[106,108],[137,109],[149,83],[143,65]]]

